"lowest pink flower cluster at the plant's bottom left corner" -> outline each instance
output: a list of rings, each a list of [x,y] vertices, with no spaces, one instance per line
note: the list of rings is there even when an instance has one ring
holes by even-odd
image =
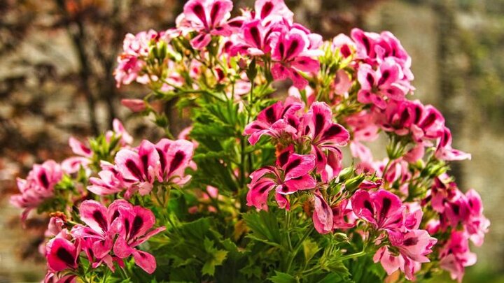
[[[137,266],[154,272],[154,256],[135,248],[165,230],[152,229],[155,217],[151,210],[122,200],[114,201],[109,208],[97,201],[83,201],[79,215],[85,225],[77,224],[71,231],[59,226],[59,233],[46,245],[50,273],[76,270],[81,252],[93,268],[104,263],[114,271],[114,263],[124,267],[123,259],[133,256]]]

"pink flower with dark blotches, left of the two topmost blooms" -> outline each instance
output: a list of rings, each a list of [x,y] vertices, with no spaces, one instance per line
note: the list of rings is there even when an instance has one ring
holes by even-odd
[[[232,31],[226,21],[232,10],[230,0],[190,0],[184,5],[183,15],[198,32],[190,43],[201,50],[209,45],[212,35],[230,36]]]

